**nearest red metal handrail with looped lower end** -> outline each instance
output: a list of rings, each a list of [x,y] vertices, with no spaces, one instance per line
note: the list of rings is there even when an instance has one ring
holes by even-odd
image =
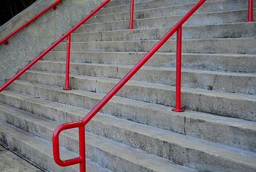
[[[195,6],[186,14],[184,17],[182,17],[177,24],[175,24],[172,29],[167,32],[164,37],[127,73],[127,75],[118,82],[113,89],[111,89],[108,94],[106,94],[105,97],[83,118],[83,120],[77,121],[77,122],[69,122],[67,124],[61,124],[59,125],[52,136],[52,148],[53,148],[53,155],[54,155],[54,160],[57,164],[60,166],[70,166],[74,164],[80,164],[80,172],[85,171],[85,142],[84,142],[84,126],[96,115],[99,110],[106,104],[108,101],[115,96],[116,92],[120,90],[126,82],[128,82],[131,77],[145,64],[145,62],[154,55],[157,50],[159,50],[160,47],[164,45],[164,43],[176,32],[178,31],[178,45],[179,45],[179,53],[177,53],[177,58],[180,59],[181,57],[181,28],[182,24],[188,20],[195,11],[204,4],[206,0],[200,0],[198,3],[195,4]],[[180,66],[177,66],[177,68],[180,68]],[[179,69],[180,71],[180,69]],[[180,77],[180,75],[179,75]],[[179,78],[180,80],[180,78]],[[180,108],[175,108],[175,110],[180,110]],[[74,159],[69,159],[66,161],[62,161],[60,159],[60,147],[59,147],[59,136],[61,131],[66,130],[66,129],[72,129],[79,127],[79,157],[76,157]]]

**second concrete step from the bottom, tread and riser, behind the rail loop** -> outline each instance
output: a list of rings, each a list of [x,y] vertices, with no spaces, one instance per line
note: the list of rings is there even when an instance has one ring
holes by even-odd
[[[1,106],[0,114],[1,118],[10,124],[47,140],[51,140],[54,129],[59,125],[25,111],[10,109],[10,106],[4,104]],[[77,153],[77,132],[77,129],[64,131],[61,134],[60,145]],[[86,155],[99,162],[100,166],[113,171],[194,171],[91,133],[86,133]]]

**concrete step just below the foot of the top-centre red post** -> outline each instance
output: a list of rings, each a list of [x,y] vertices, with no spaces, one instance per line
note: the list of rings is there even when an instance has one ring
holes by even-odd
[[[184,26],[182,28],[182,38],[253,38],[256,35],[255,27],[256,22],[204,25],[200,27]],[[169,27],[124,31],[81,32],[72,34],[71,40],[72,42],[159,40],[168,31],[170,31]],[[176,33],[173,34],[171,39],[176,39]]]

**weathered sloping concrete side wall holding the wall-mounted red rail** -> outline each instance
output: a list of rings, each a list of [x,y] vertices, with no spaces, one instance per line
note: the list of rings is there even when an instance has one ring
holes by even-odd
[[[44,10],[55,0],[38,0],[0,27],[0,39],[17,29],[24,22]],[[10,44],[0,45],[0,85],[24,68],[52,42],[77,24],[103,0],[63,0],[57,10],[49,10],[9,39]]]

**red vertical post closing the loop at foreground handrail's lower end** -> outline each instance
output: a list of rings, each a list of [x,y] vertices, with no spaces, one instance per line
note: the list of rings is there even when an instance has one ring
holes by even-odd
[[[86,171],[86,155],[85,155],[85,131],[84,125],[79,127],[79,157],[82,159],[80,163],[80,172]]]

